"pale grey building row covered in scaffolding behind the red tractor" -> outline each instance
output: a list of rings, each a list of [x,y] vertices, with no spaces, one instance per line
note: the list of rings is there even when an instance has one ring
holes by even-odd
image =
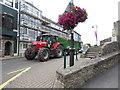
[[[24,56],[26,48],[33,41],[36,41],[37,36],[44,33],[68,38],[66,32],[62,32],[62,27],[57,25],[52,20],[42,15],[42,11],[36,8],[32,3],[25,0],[20,1],[20,16],[19,16],[19,55]]]

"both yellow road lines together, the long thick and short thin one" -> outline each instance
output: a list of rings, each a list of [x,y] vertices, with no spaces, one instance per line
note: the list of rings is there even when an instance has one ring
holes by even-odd
[[[12,74],[12,73],[15,73],[15,72],[18,72],[18,71],[22,71],[22,72],[20,72],[20,73],[18,73],[17,75],[15,75],[14,77],[12,77],[11,79],[9,79],[8,81],[6,81],[5,83],[3,83],[2,85],[0,85],[0,90],[2,89],[2,88],[4,88],[8,83],[10,83],[11,81],[13,81],[14,79],[16,79],[17,77],[19,77],[20,75],[22,75],[24,72],[26,72],[26,71],[28,71],[29,69],[31,69],[31,67],[28,67],[28,68],[26,68],[25,70],[24,70],[25,68],[23,68],[23,69],[20,69],[20,70],[16,70],[16,71],[13,71],[13,72],[10,72],[10,73],[7,73],[8,75],[9,74]]]

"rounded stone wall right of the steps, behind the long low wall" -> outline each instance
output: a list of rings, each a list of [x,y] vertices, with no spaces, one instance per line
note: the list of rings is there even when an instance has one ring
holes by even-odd
[[[107,42],[101,47],[101,56],[120,51],[120,42]]]

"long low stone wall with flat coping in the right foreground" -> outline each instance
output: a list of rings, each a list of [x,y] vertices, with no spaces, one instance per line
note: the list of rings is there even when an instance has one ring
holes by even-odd
[[[95,75],[105,72],[117,64],[118,59],[120,59],[120,53],[114,53],[108,57],[102,57],[101,60],[91,61],[84,66],[60,68],[56,71],[55,88],[80,88]]]

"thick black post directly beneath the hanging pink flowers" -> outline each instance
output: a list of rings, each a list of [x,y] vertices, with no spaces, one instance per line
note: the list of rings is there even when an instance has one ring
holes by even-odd
[[[70,41],[70,67],[74,66],[74,38],[73,30],[71,30],[71,41]]]

